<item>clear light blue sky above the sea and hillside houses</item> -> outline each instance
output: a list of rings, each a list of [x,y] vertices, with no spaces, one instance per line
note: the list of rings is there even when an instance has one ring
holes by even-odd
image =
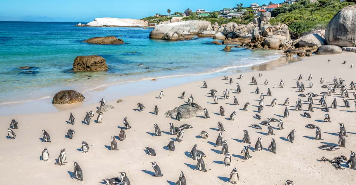
[[[187,8],[195,11],[222,10],[252,2],[268,4],[270,0],[0,0],[0,21],[48,21],[48,22],[90,22],[99,17],[143,18],[161,13],[167,9],[184,12]],[[272,1],[274,3],[282,2]]]

